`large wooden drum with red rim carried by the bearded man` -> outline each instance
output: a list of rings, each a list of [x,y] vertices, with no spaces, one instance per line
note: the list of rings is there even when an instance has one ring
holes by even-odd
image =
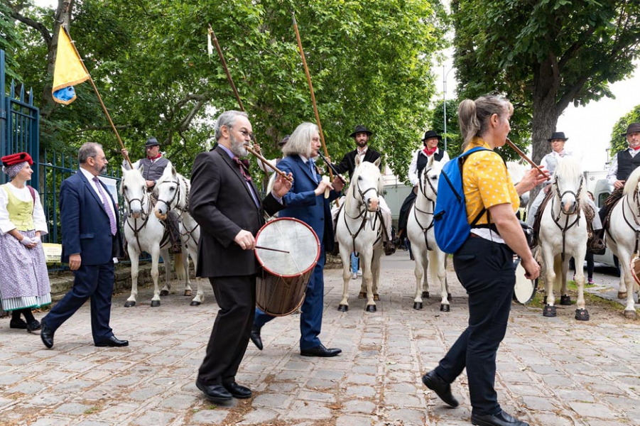
[[[305,290],[320,258],[320,241],[305,222],[281,217],[267,222],[256,235],[260,264],[256,305],[273,317],[295,312],[305,300]]]

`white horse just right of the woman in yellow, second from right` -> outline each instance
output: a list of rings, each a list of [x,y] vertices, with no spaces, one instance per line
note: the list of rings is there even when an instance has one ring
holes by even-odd
[[[582,214],[582,197],[586,195],[584,176],[580,162],[575,158],[564,158],[558,162],[550,190],[553,197],[546,205],[541,217],[538,244],[545,269],[546,306],[545,317],[555,317],[555,296],[553,290],[560,290],[560,305],[570,305],[567,295],[567,271],[569,259],[576,265],[585,262],[587,253],[587,219]],[[589,320],[585,309],[585,273],[576,268],[577,309],[575,319]],[[552,286],[553,285],[553,286]]]

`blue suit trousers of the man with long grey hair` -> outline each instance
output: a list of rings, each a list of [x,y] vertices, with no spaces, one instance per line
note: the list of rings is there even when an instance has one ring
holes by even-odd
[[[303,302],[302,313],[300,314],[300,350],[305,351],[320,345],[320,331],[322,329],[322,310],[324,310],[325,298],[325,278],[323,270],[325,268],[325,244],[320,246],[320,258],[313,268],[311,280],[307,285],[305,301]],[[256,308],[254,324],[262,327],[267,322],[273,320],[271,315]]]

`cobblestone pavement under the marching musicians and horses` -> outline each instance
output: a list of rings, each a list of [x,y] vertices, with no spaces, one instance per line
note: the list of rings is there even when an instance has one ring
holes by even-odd
[[[0,425],[470,425],[466,376],[453,384],[460,408],[446,408],[421,383],[460,334],[467,298],[450,273],[452,310],[439,301],[413,306],[413,266],[406,252],[384,259],[378,312],[364,312],[351,280],[350,310],[337,312],[340,271],[326,271],[322,342],[339,347],[332,359],[298,351],[299,316],[279,318],[251,343],[237,381],[254,397],[215,407],[195,388],[217,305],[207,298],[164,297],[151,308],[151,290],[124,308],[114,297],[112,327],[129,339],[122,349],[92,345],[85,305],[46,350],[38,334],[0,320]],[[482,273],[480,271],[479,273]],[[435,293],[435,292],[433,292]],[[38,315],[41,317],[42,315]],[[514,306],[498,355],[497,389],[503,408],[531,425],[640,424],[640,321],[617,313],[590,322]]]

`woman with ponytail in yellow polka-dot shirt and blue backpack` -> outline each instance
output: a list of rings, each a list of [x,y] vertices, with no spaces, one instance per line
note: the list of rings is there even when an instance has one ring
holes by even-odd
[[[457,198],[462,202],[466,200],[467,220],[462,222],[467,231],[459,247],[452,245],[451,252],[457,277],[469,295],[469,327],[438,366],[422,379],[440,399],[457,407],[451,383],[466,367],[471,422],[479,426],[528,426],[501,410],[494,388],[496,354],[506,332],[516,282],[514,253],[521,257],[527,278],[533,280],[540,273],[516,212],[520,206],[519,195],[545,178],[533,169],[514,186],[504,160],[493,151],[506,143],[513,111],[511,102],[495,96],[479,97],[475,101],[465,99],[460,104],[458,120],[464,138],[463,155],[449,164],[459,167],[464,197]],[[464,154],[472,149],[473,153]],[[452,187],[447,189],[453,191]],[[440,185],[438,192],[440,201],[443,195]],[[438,221],[442,221],[440,226],[448,226],[443,224],[452,221],[446,212],[434,218],[436,226]],[[455,222],[455,218],[453,220]]]

